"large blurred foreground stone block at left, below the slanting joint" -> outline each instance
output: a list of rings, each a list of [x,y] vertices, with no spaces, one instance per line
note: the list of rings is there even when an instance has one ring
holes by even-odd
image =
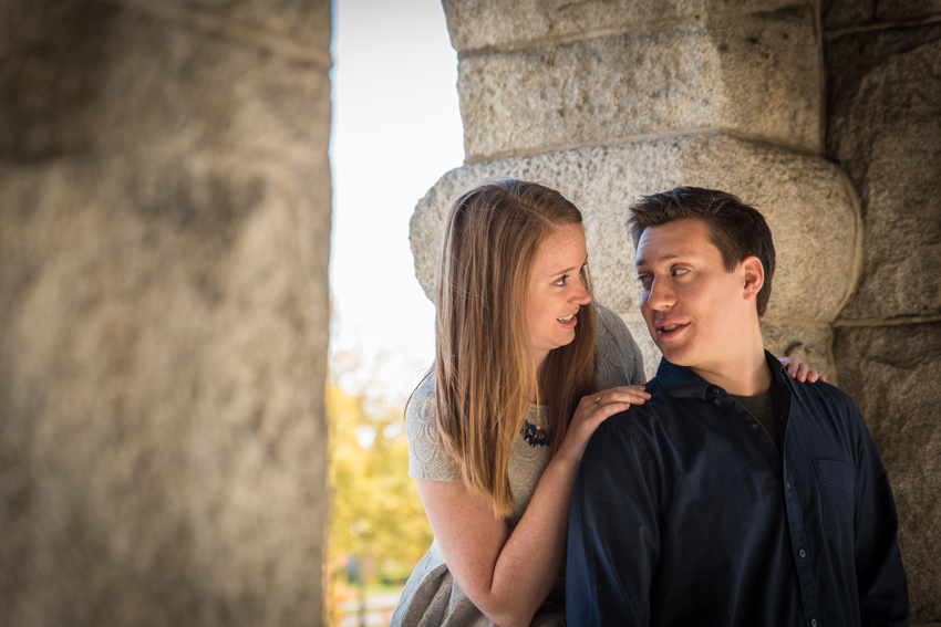
[[[0,625],[319,624],[325,73],[0,18]]]

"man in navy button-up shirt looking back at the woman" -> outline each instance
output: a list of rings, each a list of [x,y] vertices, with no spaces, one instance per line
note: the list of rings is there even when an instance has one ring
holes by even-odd
[[[568,625],[908,625],[896,506],[859,410],[764,349],[775,253],[762,215],[701,188],[631,212],[663,360],[652,398],[585,451]]]

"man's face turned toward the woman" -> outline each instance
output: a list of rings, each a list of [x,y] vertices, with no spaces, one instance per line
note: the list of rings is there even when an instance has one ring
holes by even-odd
[[[666,360],[722,369],[747,326],[745,273],[727,272],[709,226],[684,219],[649,227],[637,250],[641,313]],[[754,311],[754,304],[751,304]]]

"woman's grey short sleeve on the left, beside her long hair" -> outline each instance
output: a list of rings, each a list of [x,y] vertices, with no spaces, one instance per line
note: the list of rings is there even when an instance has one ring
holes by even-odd
[[[409,476],[426,481],[458,481],[457,469],[435,438],[434,373],[412,393],[405,412]]]

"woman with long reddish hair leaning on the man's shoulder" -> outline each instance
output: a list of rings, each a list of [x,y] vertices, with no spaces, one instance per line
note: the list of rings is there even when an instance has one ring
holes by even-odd
[[[435,541],[391,625],[565,625],[581,454],[602,420],[649,398],[627,326],[592,303],[581,222],[558,191],[513,179],[451,209],[435,366],[406,414]]]

